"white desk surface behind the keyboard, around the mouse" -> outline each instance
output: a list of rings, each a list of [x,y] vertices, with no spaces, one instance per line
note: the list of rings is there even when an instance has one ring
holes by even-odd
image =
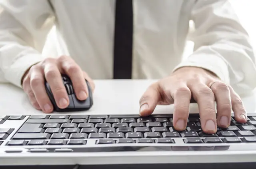
[[[93,95],[94,105],[89,111],[74,114],[138,114],[139,100],[153,80],[96,80]],[[256,112],[256,92],[242,97],[246,111]],[[191,113],[198,113],[198,106],[192,103]],[[0,84],[1,115],[42,114],[32,107],[24,91],[11,84]],[[70,112],[68,112],[70,113]],[[154,113],[173,113],[173,105],[157,106]],[[63,113],[62,113],[63,114]]]

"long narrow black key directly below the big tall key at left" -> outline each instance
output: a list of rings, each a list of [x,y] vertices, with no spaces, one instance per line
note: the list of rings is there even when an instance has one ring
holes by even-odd
[[[20,140],[20,139],[49,139],[50,138],[49,133],[17,133],[14,135],[12,139],[14,140]]]

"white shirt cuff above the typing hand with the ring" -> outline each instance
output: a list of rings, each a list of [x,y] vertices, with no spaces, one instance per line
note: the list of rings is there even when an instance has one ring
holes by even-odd
[[[228,66],[219,56],[212,54],[192,54],[188,59],[176,66],[173,72],[186,66],[203,68],[216,74],[216,76],[218,76],[224,83],[229,84],[230,82]]]

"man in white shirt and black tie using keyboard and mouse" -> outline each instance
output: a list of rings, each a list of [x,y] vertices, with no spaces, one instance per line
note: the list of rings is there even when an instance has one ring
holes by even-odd
[[[228,127],[232,110],[236,121],[247,120],[239,94],[256,85],[255,58],[228,0],[2,0],[0,5],[4,80],[22,87],[36,109],[53,109],[44,78],[58,106],[67,107],[65,73],[81,100],[87,97],[84,78],[93,89],[92,79],[161,79],[142,95],[140,115],[174,103],[177,130],[186,128],[192,99],[206,133]],[[195,48],[182,61],[190,20]],[[54,24],[70,56],[42,57]]]

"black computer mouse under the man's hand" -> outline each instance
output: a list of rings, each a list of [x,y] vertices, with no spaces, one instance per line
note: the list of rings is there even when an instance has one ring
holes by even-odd
[[[58,105],[55,102],[54,96],[52,94],[50,85],[48,82],[45,82],[45,88],[46,88],[46,93],[48,94],[48,97],[50,98],[52,105],[54,107],[54,111],[57,112],[64,112],[64,111],[83,111],[83,110],[89,110],[92,107],[93,104],[93,99],[92,99],[92,90],[90,87],[90,84],[87,80],[86,84],[88,87],[88,97],[86,100],[78,100],[76,97],[76,94],[73,89],[72,81],[67,75],[62,75],[62,81],[63,84],[67,90],[68,93],[68,98],[69,98],[69,105],[65,109],[60,109]]]

